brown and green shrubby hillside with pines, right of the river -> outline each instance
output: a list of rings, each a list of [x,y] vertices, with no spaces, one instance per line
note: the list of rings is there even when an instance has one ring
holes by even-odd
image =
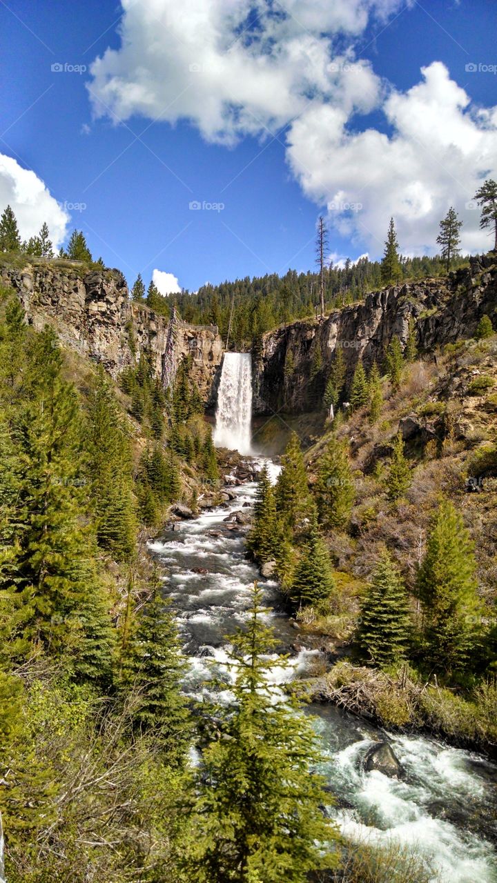
[[[394,338],[382,366],[367,375],[359,362],[343,383],[325,402],[332,421],[290,419],[279,482],[261,485],[253,554],[271,562],[301,630],[341,660],[316,672],[317,698],[494,752],[492,322],[422,358],[414,336],[403,352]]]

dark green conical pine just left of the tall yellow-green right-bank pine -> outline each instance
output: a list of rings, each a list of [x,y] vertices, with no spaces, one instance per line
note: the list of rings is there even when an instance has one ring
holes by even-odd
[[[382,668],[405,655],[409,643],[407,595],[386,549],[363,599],[359,623],[356,640],[365,660]]]

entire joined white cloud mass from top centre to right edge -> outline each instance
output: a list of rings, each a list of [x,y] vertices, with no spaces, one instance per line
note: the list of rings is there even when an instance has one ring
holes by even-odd
[[[91,66],[94,115],[186,119],[226,145],[280,132],[303,192],[357,250],[378,256],[394,215],[404,253],[434,251],[451,205],[463,248],[483,250],[467,204],[497,176],[497,107],[474,106],[436,60],[401,92],[357,58],[372,19],[413,3],[122,0],[121,46]],[[372,110],[388,134],[361,126]]]

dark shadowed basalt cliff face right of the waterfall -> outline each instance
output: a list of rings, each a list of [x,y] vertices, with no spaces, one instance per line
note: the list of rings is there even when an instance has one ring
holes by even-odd
[[[420,351],[475,333],[487,313],[497,322],[497,255],[471,258],[448,279],[424,279],[367,295],[321,321],[298,321],[263,337],[254,357],[254,411],[298,414],[320,407],[335,351],[343,352],[348,381],[360,358],[381,365],[393,336],[405,343],[416,320]]]

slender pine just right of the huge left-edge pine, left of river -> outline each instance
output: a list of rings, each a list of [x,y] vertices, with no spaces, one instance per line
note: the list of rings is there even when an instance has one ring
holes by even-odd
[[[134,555],[136,531],[131,449],[102,367],[90,394],[88,456],[98,544],[126,561]]]

